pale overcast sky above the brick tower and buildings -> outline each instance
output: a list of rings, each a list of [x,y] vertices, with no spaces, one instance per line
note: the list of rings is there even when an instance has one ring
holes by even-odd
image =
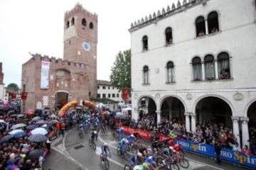
[[[78,2],[87,11],[97,13],[97,79],[110,80],[116,55],[131,47],[131,23],[171,7],[173,1],[176,4],[178,0],[1,0],[0,62],[4,84],[21,86],[22,64],[31,58],[28,52],[63,58],[64,13]]]

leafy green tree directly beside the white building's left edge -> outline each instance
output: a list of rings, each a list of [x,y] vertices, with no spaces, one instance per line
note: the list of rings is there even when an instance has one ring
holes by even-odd
[[[131,50],[118,53],[111,67],[110,81],[119,91],[124,87],[131,89]]]

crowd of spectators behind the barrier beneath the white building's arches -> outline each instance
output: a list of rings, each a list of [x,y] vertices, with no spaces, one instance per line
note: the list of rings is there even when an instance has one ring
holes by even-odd
[[[122,120],[123,125],[129,125],[132,128],[138,128],[155,132],[156,134],[169,135],[171,137],[178,137],[178,139],[185,139],[193,143],[205,143],[214,145],[215,142],[220,143],[220,147],[233,149],[235,151],[243,152],[247,155],[256,154],[256,128],[250,128],[250,146],[238,145],[238,138],[233,134],[233,129],[224,123],[208,122],[196,124],[196,131],[187,132],[186,123],[184,120],[174,118],[167,120],[161,119],[161,123],[157,125],[156,118],[151,115],[144,115],[139,120]]]

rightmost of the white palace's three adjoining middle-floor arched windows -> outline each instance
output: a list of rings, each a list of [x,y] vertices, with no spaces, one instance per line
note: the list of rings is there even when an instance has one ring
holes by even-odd
[[[227,52],[218,55],[218,75],[220,79],[230,79],[230,61]]]

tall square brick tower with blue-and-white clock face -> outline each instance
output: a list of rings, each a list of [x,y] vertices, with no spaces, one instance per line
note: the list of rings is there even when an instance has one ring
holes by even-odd
[[[63,60],[85,64],[87,80],[90,81],[86,83],[90,84],[91,95],[95,96],[97,93],[97,14],[85,10],[81,4],[76,4],[71,11],[65,12],[64,23]]]

